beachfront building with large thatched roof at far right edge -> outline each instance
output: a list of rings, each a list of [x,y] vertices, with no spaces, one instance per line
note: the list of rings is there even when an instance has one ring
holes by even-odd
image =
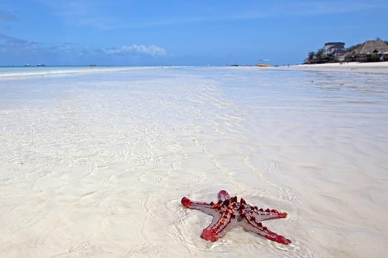
[[[345,55],[348,62],[388,61],[388,45],[382,40],[368,40]]]

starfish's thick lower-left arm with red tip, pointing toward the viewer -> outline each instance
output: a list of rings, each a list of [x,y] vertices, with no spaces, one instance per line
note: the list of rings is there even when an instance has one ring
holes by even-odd
[[[212,223],[202,231],[201,237],[207,241],[215,242],[225,235],[230,223],[230,215],[221,214],[219,218],[213,217]]]

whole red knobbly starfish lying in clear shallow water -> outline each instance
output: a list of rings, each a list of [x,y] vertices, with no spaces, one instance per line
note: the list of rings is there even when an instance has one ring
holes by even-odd
[[[291,241],[283,236],[276,234],[263,226],[260,221],[269,219],[285,218],[287,213],[278,212],[276,210],[258,209],[256,206],[251,206],[241,198],[237,202],[237,196],[231,197],[225,190],[218,193],[218,203],[197,203],[183,197],[182,205],[186,208],[201,210],[208,215],[213,216],[213,222],[204,229],[201,237],[205,240],[215,242],[223,237],[225,231],[231,228],[232,225],[238,225],[245,230],[252,231],[265,238],[282,243],[289,244]],[[228,227],[228,225],[230,226]]]

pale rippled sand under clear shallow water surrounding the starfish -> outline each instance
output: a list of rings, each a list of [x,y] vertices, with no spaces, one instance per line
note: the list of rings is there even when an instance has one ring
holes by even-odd
[[[385,256],[386,76],[44,75],[0,79],[1,257]],[[221,189],[287,212],[263,224],[293,243],[201,239],[212,218],[180,200]]]

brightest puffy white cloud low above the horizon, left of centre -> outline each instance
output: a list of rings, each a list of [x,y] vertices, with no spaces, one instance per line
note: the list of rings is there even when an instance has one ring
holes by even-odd
[[[156,45],[151,45],[147,47],[144,45],[133,44],[131,46],[122,46],[119,49],[102,48],[101,51],[103,51],[106,54],[143,54],[143,55],[151,55],[151,56],[167,56],[166,50]]]

